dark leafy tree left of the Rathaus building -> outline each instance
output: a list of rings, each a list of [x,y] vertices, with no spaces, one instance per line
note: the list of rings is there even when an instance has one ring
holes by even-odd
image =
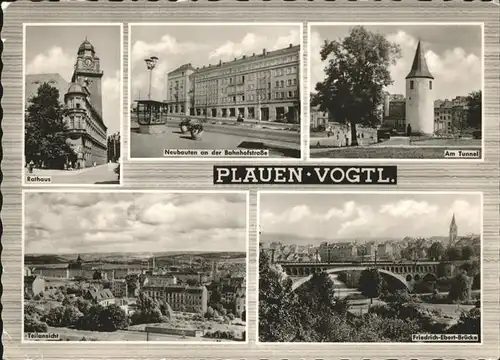
[[[43,160],[49,168],[64,167],[74,151],[67,143],[64,109],[59,103],[59,90],[43,83],[30,99],[25,117],[26,161]]]

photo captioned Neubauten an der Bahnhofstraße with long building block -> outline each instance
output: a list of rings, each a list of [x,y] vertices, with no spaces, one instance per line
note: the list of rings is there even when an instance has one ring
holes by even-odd
[[[300,25],[133,24],[130,34],[131,158],[300,158]]]

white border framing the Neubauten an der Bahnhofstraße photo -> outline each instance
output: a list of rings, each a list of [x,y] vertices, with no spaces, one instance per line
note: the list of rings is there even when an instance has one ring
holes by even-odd
[[[266,157],[266,158],[247,158],[247,157],[220,157],[220,158],[205,158],[205,157],[131,157],[130,148],[132,143],[132,136],[130,131],[130,123],[131,123],[131,115],[130,115],[130,107],[132,105],[131,101],[131,72],[132,72],[132,64],[130,62],[131,59],[131,49],[132,49],[132,26],[297,26],[299,27],[299,45],[300,45],[300,54],[299,54],[299,100],[300,104],[300,158],[289,158],[289,157]],[[304,113],[304,23],[303,22],[165,22],[165,23],[128,23],[128,106],[127,106],[127,133],[128,136],[128,157],[127,160],[130,162],[141,162],[141,161],[173,161],[173,162],[192,162],[192,161],[203,161],[203,162],[212,162],[212,163],[223,163],[223,162],[245,162],[245,163],[269,163],[269,162],[280,162],[280,163],[296,163],[299,161],[306,160],[305,157],[305,135],[304,129],[308,126],[308,122],[306,121],[305,113]],[[210,149],[209,149],[210,150]]]

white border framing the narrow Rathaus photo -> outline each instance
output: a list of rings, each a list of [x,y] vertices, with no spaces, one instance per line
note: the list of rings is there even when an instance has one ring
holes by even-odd
[[[24,154],[24,141],[25,141],[25,107],[26,107],[26,28],[28,26],[119,26],[120,27],[120,126],[118,128],[120,132],[120,180],[118,184],[65,184],[65,183],[41,183],[41,184],[27,184],[26,183],[26,169],[24,167],[26,156]],[[23,23],[23,60],[22,60],[22,123],[23,123],[23,133],[21,141],[21,154],[22,154],[22,164],[21,164],[21,185],[23,187],[103,187],[103,188],[117,188],[123,186],[123,24],[118,22],[107,22],[107,23]],[[107,134],[109,135],[109,134]],[[107,140],[107,139],[106,139]],[[75,175],[77,176],[77,175]]]

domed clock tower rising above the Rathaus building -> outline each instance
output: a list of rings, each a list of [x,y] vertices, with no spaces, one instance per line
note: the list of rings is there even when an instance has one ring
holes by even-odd
[[[100,67],[100,60],[95,54],[94,46],[85,38],[78,48],[78,56],[75,70],[71,82],[76,82],[85,87],[89,96],[88,99],[99,114],[102,120],[102,93],[101,79],[103,72]]]

